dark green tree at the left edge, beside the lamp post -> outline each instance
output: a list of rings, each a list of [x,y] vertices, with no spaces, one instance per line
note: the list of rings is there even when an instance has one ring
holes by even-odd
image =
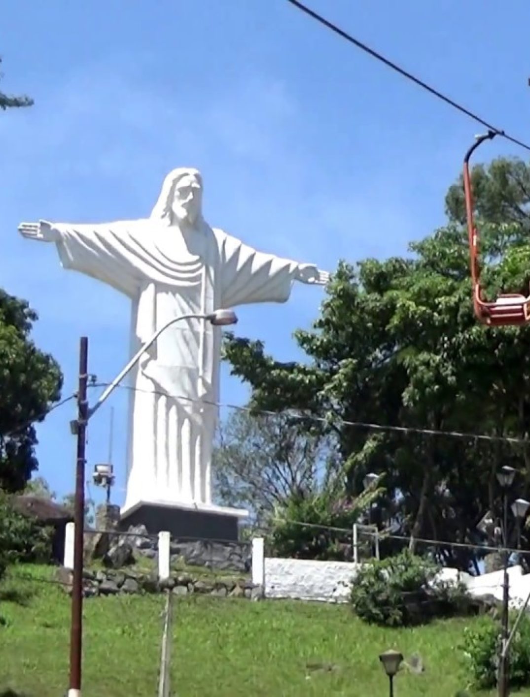
[[[21,491],[38,468],[33,424],[61,394],[62,375],[31,339],[37,314],[0,290],[0,489]]]

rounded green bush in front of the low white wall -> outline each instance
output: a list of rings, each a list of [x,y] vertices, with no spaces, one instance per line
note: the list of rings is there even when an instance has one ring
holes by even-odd
[[[354,611],[367,622],[391,627],[468,613],[471,599],[465,586],[436,581],[439,570],[432,561],[408,550],[371,562],[352,581]]]

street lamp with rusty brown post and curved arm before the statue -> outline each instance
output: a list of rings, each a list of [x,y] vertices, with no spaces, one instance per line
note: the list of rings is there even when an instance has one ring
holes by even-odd
[[[82,638],[83,638],[83,554],[84,554],[84,475],[86,465],[86,424],[98,411],[103,402],[114,392],[123,378],[139,362],[142,355],[156,342],[165,330],[176,322],[185,319],[200,319],[214,326],[237,323],[236,313],[232,309],[218,309],[209,314],[185,314],[169,320],[135,355],[114,378],[112,383],[100,395],[96,404],[89,407],[87,398],[88,381],[88,339],[81,338],[79,350],[79,390],[77,392],[77,420],[72,422],[73,434],[77,436],[77,464],[75,474],[75,509],[74,509],[74,568],[72,578],[72,608],[70,624],[70,687],[68,697],[81,697],[82,675]],[[108,473],[106,473],[108,474]]]

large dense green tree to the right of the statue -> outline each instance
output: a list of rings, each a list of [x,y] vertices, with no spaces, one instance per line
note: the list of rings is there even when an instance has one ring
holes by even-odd
[[[530,168],[494,160],[475,167],[472,180],[485,290],[527,294]],[[485,542],[476,525],[497,512],[497,470],[517,468],[514,496],[530,496],[530,329],[491,329],[474,318],[462,181],[448,190],[446,217],[407,256],[340,262],[321,314],[295,332],[303,362],[279,362],[262,342],[233,335],[225,359],[252,388],[251,408],[294,411],[298,438],[326,441],[338,463],[338,497],[355,500],[367,473],[384,473],[373,512],[381,526],[433,539],[439,561],[468,569],[480,553],[443,543]]]

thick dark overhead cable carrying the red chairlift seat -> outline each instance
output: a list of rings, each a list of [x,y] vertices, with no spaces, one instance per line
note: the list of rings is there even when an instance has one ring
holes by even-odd
[[[434,87],[430,86],[426,82],[423,82],[423,80],[419,79],[419,77],[412,75],[412,73],[408,72],[408,70],[405,70],[401,66],[398,66],[397,63],[394,63],[393,61],[389,60],[388,58],[385,58],[385,56],[382,56],[377,51],[374,51],[374,49],[370,48],[362,41],[354,38],[354,36],[351,36],[351,34],[347,33],[347,31],[345,31],[344,29],[340,29],[340,26],[337,26],[337,24],[333,24],[333,22],[326,20],[325,17],[322,17],[321,15],[316,13],[314,10],[311,10],[310,8],[308,8],[308,6],[304,5],[301,2],[298,2],[298,0],[287,0],[287,2],[291,3],[294,7],[298,8],[298,10],[301,10],[306,15],[309,15],[310,17],[312,17],[313,20],[316,20],[317,22],[319,22],[323,26],[326,26],[327,29],[331,29],[331,31],[335,32],[336,34],[338,34],[338,36],[341,36],[343,39],[347,40],[349,43],[353,44],[357,48],[360,48],[365,53],[368,53],[370,56],[372,56],[372,58],[376,59],[377,61],[380,61],[381,63],[384,63],[384,65],[387,66],[388,68],[395,70],[395,72],[398,72],[403,77],[406,77],[411,82],[414,82],[415,84],[420,86],[422,89],[425,89],[427,92],[430,92],[432,95],[434,95],[438,99],[441,99],[442,101],[446,102],[446,104],[453,107],[453,109],[457,109],[457,111],[461,112],[462,114],[465,114],[466,116],[469,116],[469,118],[472,118],[477,123],[482,124],[488,130],[494,131],[495,133],[497,133],[497,135],[501,135],[503,138],[506,138],[506,140],[511,141],[515,145],[518,145],[521,148],[524,148],[525,150],[530,151],[529,145],[523,143],[522,141],[518,140],[517,138],[514,138],[514,137],[508,135],[506,132],[504,132],[500,128],[497,128],[496,126],[492,125],[488,121],[485,121],[485,119],[478,116],[478,114],[474,114],[474,112],[471,112],[466,107],[463,107],[461,104],[458,104],[458,102],[455,102],[453,99],[451,99],[447,95],[439,92],[437,89],[434,89]]]

